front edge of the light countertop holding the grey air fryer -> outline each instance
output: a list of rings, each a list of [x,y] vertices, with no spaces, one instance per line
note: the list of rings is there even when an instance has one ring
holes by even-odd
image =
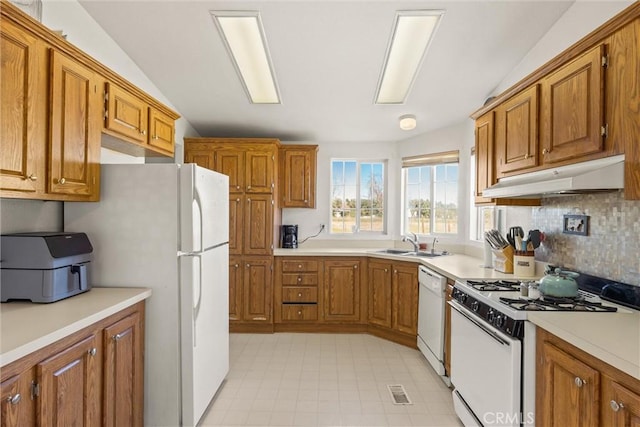
[[[95,288],[94,288],[95,289]],[[108,289],[108,288],[105,288]],[[127,289],[138,289],[140,292],[127,297],[115,304],[112,304],[108,307],[103,308],[102,310],[95,312],[89,316],[81,317],[77,321],[64,326],[63,328],[57,329],[54,332],[43,335],[35,340],[29,341],[23,345],[20,345],[14,349],[8,350],[0,354],[0,367],[4,367],[16,360],[25,357],[34,351],[38,351],[50,344],[53,344],[60,339],[63,339],[87,326],[90,326],[96,322],[101,321],[113,314],[118,313],[134,304],[137,304],[140,301],[144,301],[145,299],[151,296],[151,289],[148,288],[127,288]],[[72,297],[73,298],[73,297]],[[55,304],[55,303],[52,303]]]

